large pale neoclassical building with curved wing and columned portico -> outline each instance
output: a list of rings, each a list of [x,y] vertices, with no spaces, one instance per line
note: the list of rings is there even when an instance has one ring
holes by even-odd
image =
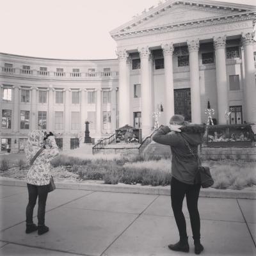
[[[54,60],[0,54],[1,150],[22,151],[28,131],[53,131],[77,147],[116,127],[154,127],[174,113],[216,124],[256,124],[256,8],[217,1],[165,1],[110,32],[116,60]],[[225,113],[231,112],[230,116]]]

